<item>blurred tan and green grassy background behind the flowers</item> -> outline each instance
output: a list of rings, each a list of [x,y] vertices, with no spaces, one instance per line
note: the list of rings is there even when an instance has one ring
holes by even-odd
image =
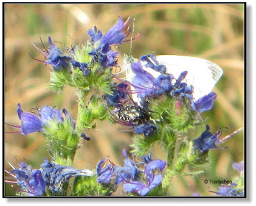
[[[20,125],[16,114],[17,104],[24,111],[44,105],[67,109],[76,119],[75,90],[64,88],[61,93],[47,90],[50,65],[45,67],[32,59],[44,60],[31,42],[42,48],[40,37],[48,47],[47,37],[59,47],[83,43],[89,37],[88,29],[97,26],[106,33],[118,16],[136,19],[134,34],[141,32],[132,42],[132,56],[144,54],[175,54],[196,56],[217,63],[223,68],[223,77],[214,88],[218,97],[211,111],[203,118],[211,132],[223,129],[227,136],[244,126],[244,4],[5,4],[5,122]],[[132,26],[132,20],[131,24]],[[62,47],[62,45],[63,47]],[[129,54],[130,43],[124,43],[119,51]],[[15,129],[6,125],[6,132]],[[95,169],[100,159],[110,156],[111,161],[123,165],[122,150],[131,150],[132,133],[121,125],[97,122],[94,130],[86,131],[91,140],[77,150],[74,167]],[[205,130],[199,125],[189,136],[198,138]],[[191,196],[194,192],[205,196],[214,195],[219,185],[204,184],[205,179],[231,180],[236,171],[231,161],[244,159],[244,131],[227,139],[209,152],[210,162],[198,170],[205,173],[198,177],[174,177],[170,194]],[[18,166],[26,161],[33,168],[40,168],[44,157],[45,139],[38,133],[5,134],[5,165]],[[153,159],[166,159],[159,145],[152,150]],[[8,162],[7,162],[8,161]],[[6,195],[15,195],[15,189],[6,184]],[[122,190],[115,195],[122,195]]]

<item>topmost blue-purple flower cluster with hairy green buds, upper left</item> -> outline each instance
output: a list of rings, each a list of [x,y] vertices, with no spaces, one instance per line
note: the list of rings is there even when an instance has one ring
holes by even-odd
[[[50,88],[59,91],[68,85],[85,91],[98,88],[104,93],[112,93],[111,70],[113,67],[119,67],[116,58],[119,52],[113,51],[111,46],[125,42],[131,31],[127,26],[129,20],[124,22],[119,17],[116,24],[105,34],[94,27],[87,32],[90,40],[71,48],[67,47],[63,51],[52,42],[50,36],[48,49],[42,44],[42,51],[34,44],[45,58],[45,61],[36,60],[52,65]]]

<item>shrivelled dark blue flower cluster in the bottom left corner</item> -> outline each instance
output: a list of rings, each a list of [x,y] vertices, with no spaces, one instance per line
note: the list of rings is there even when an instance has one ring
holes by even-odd
[[[70,166],[62,166],[48,161],[47,158],[41,164],[40,170],[32,170],[25,162],[19,162],[20,168],[8,172],[16,179],[21,193],[28,193],[29,196],[43,196],[49,189],[52,194],[60,191],[61,185],[68,181],[70,177],[92,176],[93,172],[87,169],[77,170]]]

